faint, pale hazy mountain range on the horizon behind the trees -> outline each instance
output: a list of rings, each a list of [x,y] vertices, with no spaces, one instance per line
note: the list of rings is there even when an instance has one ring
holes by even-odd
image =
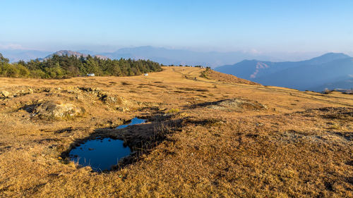
[[[11,62],[15,61],[29,61],[35,58],[44,58],[53,54],[52,51],[27,51],[27,50],[0,50],[0,52],[10,58]],[[131,47],[123,48],[114,52],[97,53],[95,51],[79,50],[79,51],[58,51],[60,54],[90,54],[91,56],[99,54],[99,56],[111,59],[119,58],[133,58],[133,59],[150,59],[164,65],[189,65],[189,66],[222,66],[225,64],[232,64],[242,61],[244,59],[265,59],[269,61],[276,61],[277,58],[261,54],[254,54],[250,52],[236,51],[236,52],[200,52],[190,51],[185,49],[166,49],[162,47]]]

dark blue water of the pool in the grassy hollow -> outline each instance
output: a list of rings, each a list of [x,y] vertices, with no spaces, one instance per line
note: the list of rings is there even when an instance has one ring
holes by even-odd
[[[128,125],[140,123],[145,123],[145,120],[133,118]],[[119,125],[116,129],[126,128],[128,125]],[[114,140],[107,137],[83,142],[79,147],[73,148],[69,156],[71,160],[81,166],[91,166],[93,171],[110,171],[119,159],[129,154],[131,154],[131,149],[124,147],[123,140]]]

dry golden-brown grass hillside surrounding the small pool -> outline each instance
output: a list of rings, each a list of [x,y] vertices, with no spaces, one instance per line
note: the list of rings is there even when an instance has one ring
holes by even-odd
[[[0,197],[353,197],[353,95],[200,78],[203,71],[0,78],[0,90],[17,95],[0,100]],[[222,103],[234,98],[246,105]],[[31,117],[44,101],[85,113]],[[112,129],[135,116],[148,123]],[[66,159],[97,135],[140,151],[109,173]]]

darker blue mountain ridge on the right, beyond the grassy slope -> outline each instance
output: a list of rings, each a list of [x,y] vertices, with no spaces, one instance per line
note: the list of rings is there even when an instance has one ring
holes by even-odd
[[[299,90],[352,89],[353,58],[346,54],[328,53],[297,62],[245,60],[215,70],[236,75],[263,85]]]

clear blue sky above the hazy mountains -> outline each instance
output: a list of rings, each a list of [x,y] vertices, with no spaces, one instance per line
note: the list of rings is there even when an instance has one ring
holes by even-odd
[[[0,3],[0,48],[353,51],[351,0]]]

